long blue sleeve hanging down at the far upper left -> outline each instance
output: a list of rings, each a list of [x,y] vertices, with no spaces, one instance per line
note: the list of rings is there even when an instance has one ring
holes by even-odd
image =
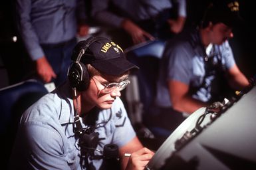
[[[25,48],[29,52],[32,60],[37,60],[45,56],[43,49],[39,44],[37,33],[31,24],[31,1],[17,0],[17,27],[21,38],[25,44]]]

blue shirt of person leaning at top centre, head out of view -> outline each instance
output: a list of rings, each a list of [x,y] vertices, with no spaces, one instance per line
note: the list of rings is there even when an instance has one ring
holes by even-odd
[[[178,16],[186,17],[186,1],[178,0]],[[110,11],[111,7],[114,9]],[[142,21],[151,19],[163,11],[172,8],[173,4],[170,0],[93,0],[92,1],[92,17],[103,25],[112,27],[121,27],[125,18],[133,21]],[[114,13],[118,11],[118,13]]]

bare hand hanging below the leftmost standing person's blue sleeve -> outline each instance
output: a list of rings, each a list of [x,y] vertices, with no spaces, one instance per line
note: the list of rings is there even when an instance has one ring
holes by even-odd
[[[53,68],[51,67],[51,65],[47,61],[47,58],[45,58],[45,56],[36,60],[36,69],[37,69],[37,74],[39,74],[40,78],[45,83],[51,82],[52,78],[57,77],[55,72],[53,71]]]

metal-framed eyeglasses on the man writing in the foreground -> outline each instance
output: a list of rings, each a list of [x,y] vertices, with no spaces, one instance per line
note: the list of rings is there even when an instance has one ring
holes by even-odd
[[[100,82],[100,80],[98,80],[97,78],[95,78],[94,76],[92,77],[94,79],[96,79],[98,82]],[[100,82],[100,84],[102,84],[102,86],[104,86],[104,88],[102,90],[100,90],[100,92],[104,92],[104,93],[111,93],[114,90],[124,90],[124,88],[126,88],[126,86],[130,83],[130,80],[124,80],[122,82],[111,82],[108,84],[104,84],[102,82]]]

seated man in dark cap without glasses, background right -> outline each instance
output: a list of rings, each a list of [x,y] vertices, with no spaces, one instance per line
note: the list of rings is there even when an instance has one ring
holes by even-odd
[[[229,89],[241,90],[249,85],[235,64],[228,42],[239,21],[237,1],[215,1],[200,27],[184,31],[166,44],[157,85],[159,114],[147,115],[146,124],[173,131],[186,119],[182,113],[192,114],[212,102],[222,102],[222,77]]]

